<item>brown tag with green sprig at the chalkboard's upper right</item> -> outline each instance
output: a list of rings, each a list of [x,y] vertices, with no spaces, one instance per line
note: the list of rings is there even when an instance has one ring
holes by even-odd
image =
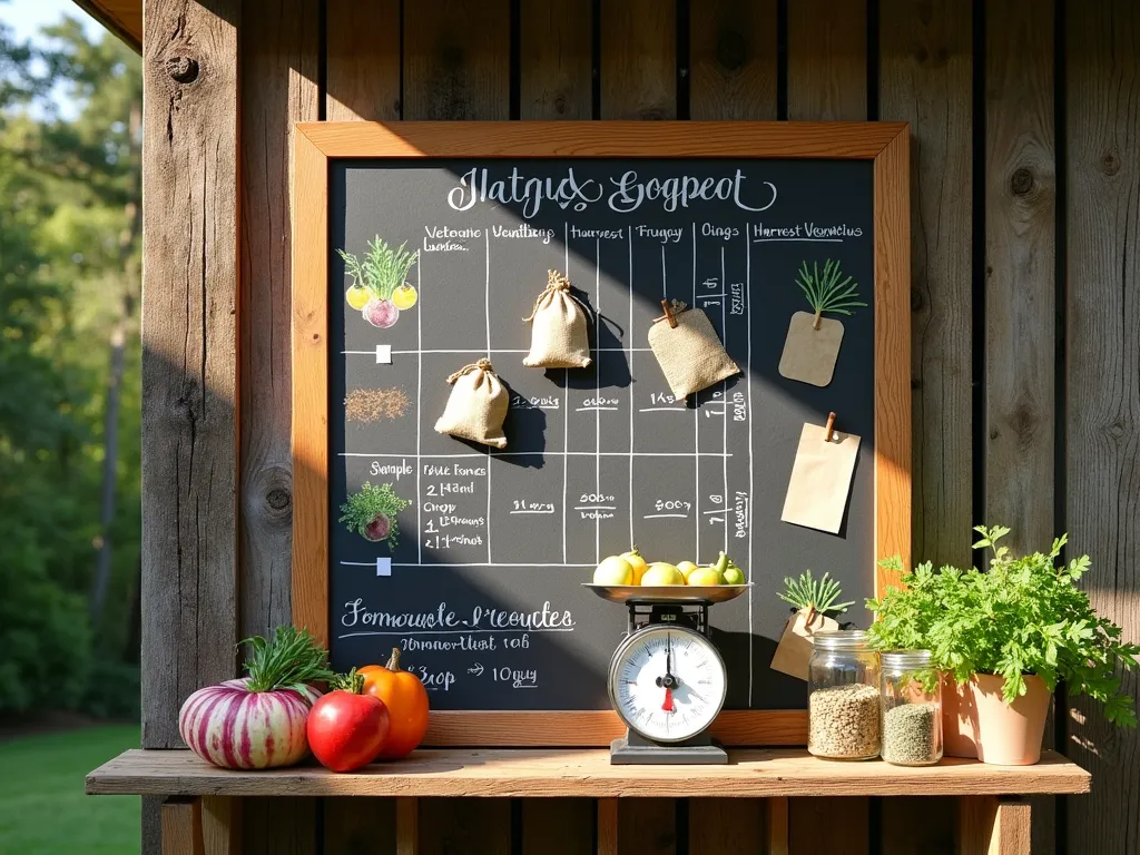
[[[820,270],[820,262],[800,264],[796,284],[804,292],[813,311],[797,311],[791,316],[780,374],[789,380],[825,386],[831,383],[839,345],[844,340],[842,321],[824,318],[825,314],[846,315],[852,309],[865,307],[858,299],[858,283],[850,276],[844,278],[839,262],[828,259]]]

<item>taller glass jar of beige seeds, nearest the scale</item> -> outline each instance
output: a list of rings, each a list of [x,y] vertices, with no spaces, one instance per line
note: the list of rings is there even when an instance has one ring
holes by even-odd
[[[879,654],[866,633],[815,633],[807,673],[807,750],[834,760],[878,757]]]

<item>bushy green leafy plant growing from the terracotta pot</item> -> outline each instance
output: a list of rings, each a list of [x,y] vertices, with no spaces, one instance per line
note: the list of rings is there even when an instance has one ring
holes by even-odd
[[[920,564],[903,576],[905,588],[888,587],[881,600],[868,601],[878,617],[872,643],[880,650],[930,650],[959,683],[971,674],[1004,677],[1007,703],[1025,694],[1026,674],[1039,675],[1050,691],[1064,679],[1070,695],[1086,694],[1105,705],[1109,722],[1134,727],[1133,701],[1121,692],[1117,667],[1140,665],[1140,645],[1121,641],[1121,627],[1098,617],[1077,587],[1089,556],[1057,565],[1062,536],[1048,553],[1015,557],[999,545],[1008,528],[975,530],[982,535],[975,548],[993,551],[988,571]],[[897,559],[881,563],[899,569]]]

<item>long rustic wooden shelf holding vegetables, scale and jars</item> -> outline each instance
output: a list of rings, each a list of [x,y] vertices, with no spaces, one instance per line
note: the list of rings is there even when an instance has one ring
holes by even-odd
[[[221,769],[189,751],[127,751],[87,776],[92,795],[140,796],[1003,796],[1089,792],[1090,775],[1052,751],[1036,766],[945,759],[906,768],[833,763],[803,749],[741,749],[726,766],[611,766],[598,749],[427,749],[336,774],[318,766]]]

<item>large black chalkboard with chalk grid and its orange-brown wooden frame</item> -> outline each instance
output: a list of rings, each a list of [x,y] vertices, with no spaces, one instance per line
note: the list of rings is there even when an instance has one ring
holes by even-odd
[[[905,157],[885,184],[891,164],[874,155],[906,131],[842,125],[828,152],[814,137],[797,146],[799,125],[736,124],[732,150],[717,152],[725,128],[473,124],[442,139],[421,124],[301,127],[294,614],[337,668],[399,646],[434,714],[465,716],[467,738],[445,741],[504,743],[480,727],[518,711],[604,720],[626,616],[580,583],[632,543],[673,563],[725,549],[749,572],[749,595],[711,620],[726,709],[752,719],[751,741],[756,722],[805,701],[801,682],[767,667],[788,617],[782,578],[828,570],[861,602],[876,559],[905,553]],[[754,153],[774,138],[785,144]],[[377,236],[418,251],[404,304],[415,302],[384,328],[348,304],[335,252],[364,255]],[[808,308],[797,269],[826,260],[868,307],[844,318],[820,388],[777,365],[791,316]],[[549,269],[589,316],[587,368],[522,365],[522,318]],[[648,342],[665,298],[705,311],[742,373],[675,400]],[[505,449],[434,431],[448,375],[481,358],[510,389]],[[839,535],[780,520],[800,429],[829,410],[862,437]],[[341,524],[365,482],[397,497],[398,538]],[[849,617],[865,626],[862,609]]]

